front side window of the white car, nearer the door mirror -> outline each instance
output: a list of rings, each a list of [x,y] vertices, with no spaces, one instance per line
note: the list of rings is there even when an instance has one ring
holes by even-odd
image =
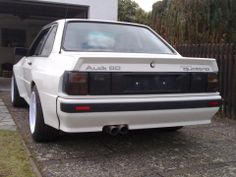
[[[44,41],[47,37],[47,34],[49,32],[50,28],[44,29],[42,30],[39,35],[37,36],[37,38],[34,40],[33,45],[30,48],[29,51],[29,55],[28,56],[33,56],[33,55],[39,55],[40,54],[40,50],[44,44]]]

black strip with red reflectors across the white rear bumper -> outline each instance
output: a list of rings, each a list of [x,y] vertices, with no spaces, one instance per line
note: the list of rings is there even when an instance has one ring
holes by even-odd
[[[64,113],[150,111],[171,109],[193,109],[219,107],[221,100],[197,101],[165,101],[165,102],[133,102],[133,103],[61,103],[60,110]]]

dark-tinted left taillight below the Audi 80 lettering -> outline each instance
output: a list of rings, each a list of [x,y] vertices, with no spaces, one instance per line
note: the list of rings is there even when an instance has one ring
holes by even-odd
[[[65,72],[63,84],[64,92],[69,95],[87,95],[88,73]]]

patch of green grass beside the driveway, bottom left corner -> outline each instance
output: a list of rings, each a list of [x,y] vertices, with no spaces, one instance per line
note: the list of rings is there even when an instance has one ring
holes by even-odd
[[[16,131],[0,130],[0,177],[35,177]]]

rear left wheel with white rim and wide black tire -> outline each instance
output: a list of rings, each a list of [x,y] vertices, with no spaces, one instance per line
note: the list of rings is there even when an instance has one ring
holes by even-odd
[[[33,87],[29,107],[29,127],[32,138],[36,142],[56,140],[59,131],[44,123],[43,111],[36,87]]]

